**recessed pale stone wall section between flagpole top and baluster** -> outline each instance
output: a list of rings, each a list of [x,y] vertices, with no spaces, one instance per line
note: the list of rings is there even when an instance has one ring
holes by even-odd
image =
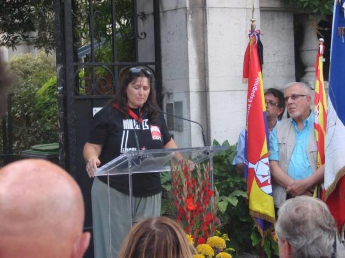
[[[282,89],[285,84],[296,80],[293,11],[280,0],[260,1],[265,89]]]

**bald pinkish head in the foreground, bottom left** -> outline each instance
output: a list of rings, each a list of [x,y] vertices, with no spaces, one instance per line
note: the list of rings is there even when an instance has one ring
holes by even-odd
[[[0,170],[0,257],[79,258],[84,203],[75,180],[45,160],[22,160]]]

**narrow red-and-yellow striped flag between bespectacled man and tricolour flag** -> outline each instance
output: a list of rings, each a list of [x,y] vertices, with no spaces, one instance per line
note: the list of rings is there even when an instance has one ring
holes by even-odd
[[[317,167],[325,164],[325,137],[327,121],[327,100],[323,79],[323,39],[319,40],[315,64],[315,95],[314,95],[314,130],[317,142]]]

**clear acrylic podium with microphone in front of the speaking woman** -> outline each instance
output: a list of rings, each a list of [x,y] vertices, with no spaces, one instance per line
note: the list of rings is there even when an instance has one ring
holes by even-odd
[[[128,230],[133,225],[134,202],[132,196],[132,175],[138,173],[155,173],[155,172],[170,172],[171,162],[177,162],[177,158],[193,161],[199,165],[201,163],[209,163],[210,165],[210,183],[213,189],[213,156],[217,153],[223,152],[227,149],[226,146],[213,146],[213,147],[199,147],[199,148],[180,148],[180,149],[159,149],[159,150],[139,150],[128,151],[107,164],[101,166],[95,176],[108,177],[108,222],[109,222],[109,257],[118,257],[118,248],[114,247],[113,241],[116,238],[116,230],[111,230],[111,221],[114,216],[114,207],[121,209],[121,213],[128,214],[127,227]],[[112,190],[109,187],[109,178],[117,175],[128,175],[129,182],[129,203],[127,207],[118,204],[116,198],[110,194]],[[116,180],[116,178],[115,178]],[[121,205],[121,206],[120,206]],[[123,240],[123,239],[122,239]],[[115,243],[115,241],[114,241]]]

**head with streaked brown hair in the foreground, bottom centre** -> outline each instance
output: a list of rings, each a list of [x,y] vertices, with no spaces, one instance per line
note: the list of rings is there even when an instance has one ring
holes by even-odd
[[[129,232],[120,258],[191,258],[192,245],[184,230],[167,217],[140,221]]]

